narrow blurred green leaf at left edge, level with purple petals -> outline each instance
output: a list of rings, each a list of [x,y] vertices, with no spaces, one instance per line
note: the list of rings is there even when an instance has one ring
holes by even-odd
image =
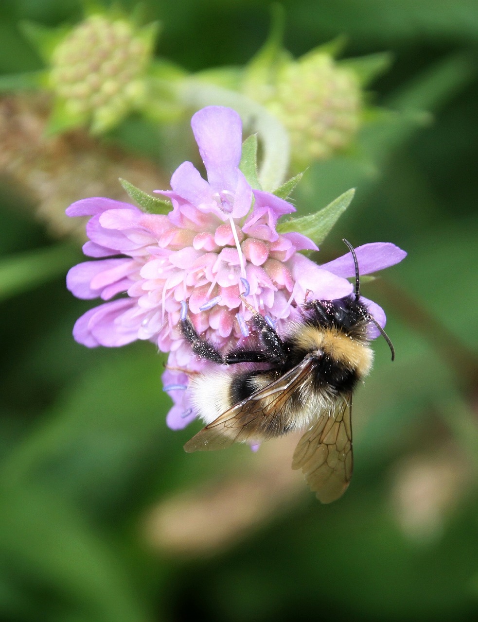
[[[0,300],[65,274],[79,259],[76,246],[57,244],[0,260]]]

